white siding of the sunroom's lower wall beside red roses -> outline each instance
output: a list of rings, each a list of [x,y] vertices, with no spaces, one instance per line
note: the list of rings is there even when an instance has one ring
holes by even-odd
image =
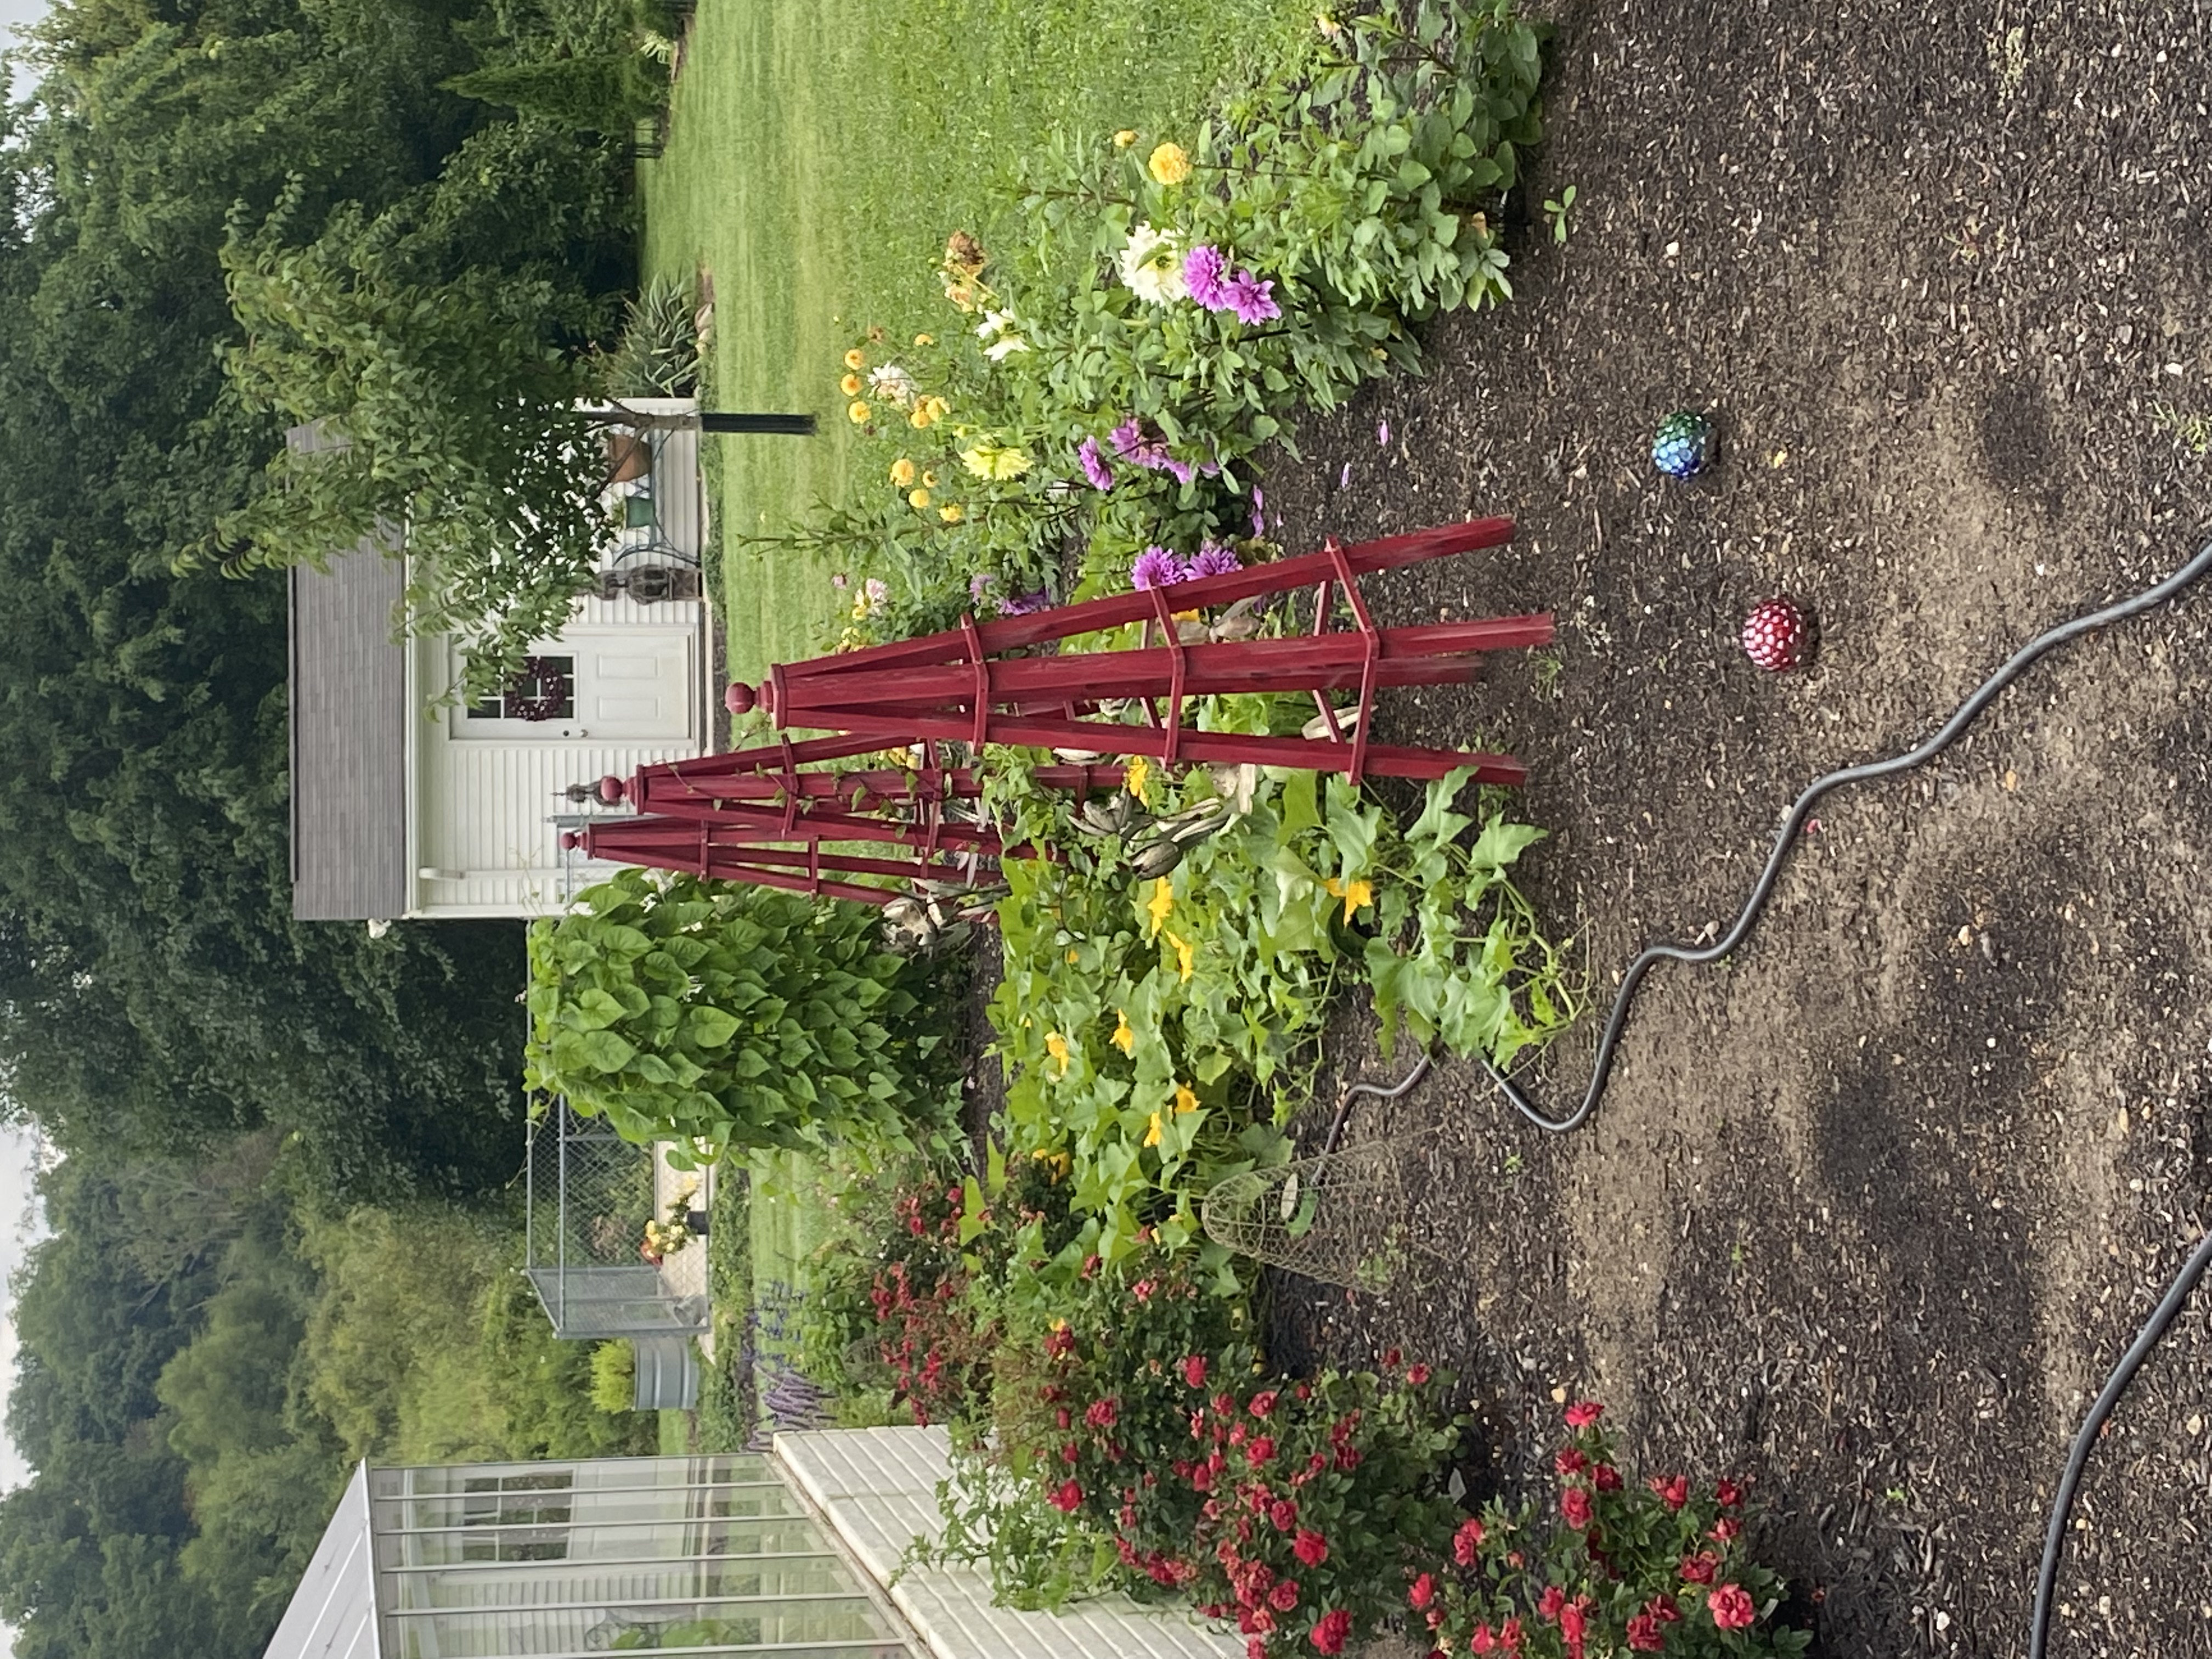
[[[774,1455],[936,1659],[1243,1659],[1241,1637],[1126,1595],[1079,1601],[1057,1615],[1013,1613],[991,1606],[984,1566],[918,1566],[898,1575],[914,1537],[945,1528],[938,1513],[938,1482],[949,1471],[945,1429],[779,1433]]]

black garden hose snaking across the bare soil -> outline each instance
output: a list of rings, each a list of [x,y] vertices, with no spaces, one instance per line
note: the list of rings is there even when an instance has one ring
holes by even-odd
[[[1865,765],[1847,765],[1838,772],[1829,772],[1827,776],[1814,779],[1812,785],[1807,785],[1805,794],[1796,799],[1796,805],[1790,807],[1790,816],[1783,818],[1781,834],[1776,834],[1774,838],[1774,852],[1767,854],[1767,867],[1759,872],[1759,880],[1752,885],[1752,894],[1743,902],[1743,914],[1736,916],[1736,925],[1703,949],[1690,945],[1648,945],[1637,956],[1637,960],[1628,964],[1628,971],[1621,975],[1619,995],[1613,998],[1613,1015],[1606,1020],[1606,1031],[1597,1042],[1597,1060],[1590,1066],[1590,1086],[1584,1091],[1582,1106],[1577,1106],[1573,1115],[1546,1117],[1502,1071],[1498,1071],[1498,1066],[1489,1062],[1489,1055],[1478,1053],[1478,1060],[1482,1060],[1482,1068],[1491,1075],[1491,1082],[1498,1086],[1498,1093],[1502,1093],[1509,1102],[1513,1102],[1513,1108],[1542,1130],[1562,1135],[1571,1128],[1582,1128],[1584,1124],[1588,1124],[1590,1113],[1597,1110],[1597,1102],[1606,1093],[1606,1082],[1613,1077],[1613,1057],[1615,1051],[1619,1048],[1621,1031],[1628,1026],[1628,1006],[1635,1000],[1637,987],[1644,982],[1644,975],[1650,973],[1659,962],[1719,962],[1723,956],[1743,945],[1752,927],[1759,925],[1759,916],[1765,911],[1767,900],[1774,896],[1774,883],[1781,878],[1783,865],[1790,863],[1790,854],[1796,849],[1798,834],[1805,830],[1805,818],[1812,816],[1812,810],[1814,805],[1818,805],[1820,796],[1825,796],[1829,790],[1843,787],[1845,783],[1869,783],[1874,779],[1887,779],[1896,776],[1898,772],[1911,772],[1913,768],[1927,765],[1947,748],[1951,748],[1951,743],[1958,741],[1960,732],[1964,732],[1975,721],[1975,717],[1984,708],[1989,708],[1989,703],[1997,697],[1997,692],[2002,692],[2006,686],[2020,679],[2020,675],[2024,675],[2028,666],[2035,664],[2039,657],[2055,650],[2057,646],[2064,646],[2070,639],[2093,633],[2095,628],[2104,628],[2115,622],[2126,622],[2128,617],[2141,615],[2152,606],[2166,604],[2177,593],[2197,582],[2205,571],[2212,571],[2212,542],[2205,542],[2205,546],[2197,553],[2197,557],[2192,557],[2188,564],[2183,564],[2179,571],[2174,571],[2157,586],[2143,588],[2141,593],[2128,599],[2108,604],[2104,611],[2093,611],[2086,617],[2062,622],[2057,628],[2051,628],[2048,633],[2042,633],[2028,644],[2024,644],[2004,661],[2004,666],[1997,672],[1984,679],[1975,688],[1975,692],[1964,703],[1958,706],[1958,712],[1942,723],[1942,730],[1938,730],[1931,739],[1920,743],[1920,748],[1907,750],[1905,754],[1891,757],[1887,761],[1867,761]],[[1413,1073],[1407,1075],[1405,1082],[1400,1082],[1396,1088],[1376,1088],[1374,1084],[1356,1084],[1354,1088],[1345,1091],[1345,1102],[1343,1106],[1338,1106],[1336,1124],[1329,1128],[1329,1146],[1332,1148],[1336,1146],[1336,1133],[1343,1128],[1343,1115],[1349,1108],[1354,1093],[1396,1097],[1402,1095],[1407,1088],[1411,1088],[1416,1082],[1420,1082],[1420,1077],[1427,1071],[1429,1071],[1429,1057],[1422,1055]],[[2081,1484],[2081,1469],[2088,1464],[2088,1453],[2097,1444],[2097,1436],[2104,1431],[2104,1425],[2112,1416],[2112,1409],[2119,1405],[2119,1396],[2126,1394],[2128,1385],[2135,1380],[2135,1374],[2143,1369],[2143,1360],[2148,1360],[2150,1352],[2159,1345],[2159,1338],[2163,1338],[2168,1327],[2172,1327],[2174,1318],[2179,1318],[2183,1303],[2190,1298],[2190,1292],[2197,1287],[2197,1283],[2205,1276],[2208,1267],[2212,1267],[2212,1232],[2205,1234],[2203,1243],[2197,1245],[2197,1252],[2183,1263],[2181,1272],[2174,1276],[2174,1283],[2168,1287],[2166,1298],[2150,1314],[2150,1321],[2137,1334],[2135,1343],[2121,1356],[2119,1365],[2112,1367],[2112,1376],[2106,1378],[2104,1391],[2097,1396],[2097,1402],[2090,1407],[2088,1418],[2081,1422],[2081,1431],[2075,1436],[2073,1453],[2066,1458],[2066,1475],[2059,1480],[2057,1498],[2051,1504],[2051,1526],[2044,1533],[2044,1559],[2042,1559],[2042,1571],[2037,1573],[2035,1579],[2035,1613],[2031,1615],[2028,1624],[2028,1659],[2044,1659],[2046,1644],[2051,1641],[2051,1595],[2053,1586],[2057,1584],[2059,1555],[2064,1553],[2066,1546],[2066,1520],[2068,1515],[2073,1515],[2075,1491]]]

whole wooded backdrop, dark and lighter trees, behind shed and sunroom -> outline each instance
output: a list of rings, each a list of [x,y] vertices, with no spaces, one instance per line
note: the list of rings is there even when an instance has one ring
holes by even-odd
[[[58,0],[0,117],[0,1110],[69,1155],[0,1502],[24,1659],[259,1652],[363,1451],[626,1444],[511,1230],[434,1201],[520,1155],[520,929],[292,920],[285,582],[177,571],[283,449],[217,358],[226,237],[613,310],[615,146],[440,91],[597,7]]]

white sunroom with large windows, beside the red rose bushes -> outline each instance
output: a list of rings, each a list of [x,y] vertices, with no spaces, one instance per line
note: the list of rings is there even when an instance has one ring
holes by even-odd
[[[942,1429],[776,1436],[765,1455],[361,1467],[268,1659],[1241,1659],[1126,1597],[991,1606],[898,1562],[938,1528]]]

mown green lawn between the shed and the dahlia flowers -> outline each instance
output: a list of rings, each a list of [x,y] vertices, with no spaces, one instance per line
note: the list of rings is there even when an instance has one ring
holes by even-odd
[[[841,352],[869,323],[942,330],[936,261],[987,237],[1004,164],[1051,126],[1179,133],[1312,0],[703,0],[668,150],[641,161],[646,270],[714,279],[723,409],[801,409],[821,438],[712,438],[730,672],[807,657],[832,568],[730,549],[843,484]]]

